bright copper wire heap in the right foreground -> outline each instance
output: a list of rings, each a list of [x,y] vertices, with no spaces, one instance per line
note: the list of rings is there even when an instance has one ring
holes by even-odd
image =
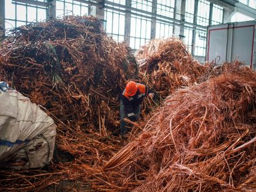
[[[255,191],[256,73],[233,64],[167,97],[105,165],[109,182],[128,191]]]

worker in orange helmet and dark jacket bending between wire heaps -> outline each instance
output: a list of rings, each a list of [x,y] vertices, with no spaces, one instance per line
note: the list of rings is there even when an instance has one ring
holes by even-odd
[[[125,135],[127,132],[124,118],[130,119],[130,121],[138,121],[140,118],[140,106],[143,102],[143,98],[146,96],[152,99],[154,97],[153,90],[134,81],[129,81],[126,84],[126,89],[122,92],[120,101],[121,135]]]

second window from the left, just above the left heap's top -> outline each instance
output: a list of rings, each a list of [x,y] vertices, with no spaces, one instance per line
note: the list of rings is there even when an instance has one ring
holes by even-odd
[[[73,0],[56,1],[56,17],[65,15],[88,15],[88,4]]]

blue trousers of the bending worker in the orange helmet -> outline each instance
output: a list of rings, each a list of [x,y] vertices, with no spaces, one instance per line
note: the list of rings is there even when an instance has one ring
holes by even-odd
[[[121,135],[125,135],[127,133],[127,127],[126,122],[124,121],[124,118],[128,118],[126,114],[126,110],[124,108],[124,103],[122,103],[122,100],[120,102],[120,131]],[[138,120],[140,118],[140,105],[134,108],[134,114],[136,119]]]

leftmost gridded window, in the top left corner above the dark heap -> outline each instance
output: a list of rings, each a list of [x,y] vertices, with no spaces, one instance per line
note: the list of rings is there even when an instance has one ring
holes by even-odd
[[[6,5],[6,32],[12,28],[46,19],[46,8],[28,5],[15,1],[5,1]]]

